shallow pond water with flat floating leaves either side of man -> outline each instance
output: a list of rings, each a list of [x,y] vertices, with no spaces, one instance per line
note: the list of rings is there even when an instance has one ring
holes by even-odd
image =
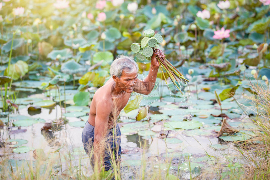
[[[164,97],[161,100],[151,97],[150,99],[149,97],[143,98],[141,104],[148,104],[150,108],[147,117],[141,121],[134,119],[138,110],[137,112],[136,110],[128,113],[121,112],[118,124],[122,131],[123,179],[138,177],[138,171],[142,168],[143,163],[146,164],[145,172],[149,173],[149,177],[158,169],[162,169],[164,175],[169,167],[170,174],[178,175],[180,179],[189,179],[190,170],[192,177],[215,179],[217,175],[213,174],[216,174],[217,169],[219,171],[221,165],[224,165],[224,156],[237,158],[234,145],[229,141],[217,138],[217,133],[214,132],[220,130],[222,119],[212,115],[219,115],[221,111],[219,106],[213,103],[212,99],[215,99],[213,92],[203,91],[203,87],[213,85],[199,85],[197,87],[199,89],[198,99],[195,87],[192,86],[186,88],[185,98],[178,94],[173,96],[168,90],[163,90]],[[52,99],[52,97],[45,97],[48,93],[31,94],[30,98]],[[53,96],[53,93],[51,95]],[[21,94],[18,100],[26,96],[27,93]],[[131,97],[131,99],[134,98]],[[50,108],[41,108],[41,111],[37,112],[28,111],[29,106],[20,105],[18,111],[10,114],[10,121],[14,123],[31,117],[30,121],[41,121],[40,119],[42,119],[43,122],[36,122],[29,126],[20,124],[20,128],[15,126],[9,130],[6,127],[0,129],[2,141],[3,139],[25,139],[27,143],[24,143],[23,146],[30,147],[25,153],[14,152],[6,157],[16,161],[35,161],[33,150],[43,149],[45,153],[49,153],[64,145],[59,151],[62,155],[62,172],[68,171],[70,165],[67,163],[66,157],[68,152],[73,152],[71,160],[73,168],[82,167],[86,176],[91,175],[92,170],[81,140],[89,107],[67,105],[67,113],[62,107],[62,117],[65,117],[68,123],[60,124],[57,131],[51,129],[41,131],[45,122],[50,123],[61,117],[59,103]],[[243,130],[250,127],[247,122],[242,122],[235,101],[224,101],[223,113],[229,117],[228,122],[236,129]],[[4,121],[7,117],[6,114],[1,119]],[[25,121],[28,122],[29,119]],[[243,134],[242,136],[244,139],[246,138]],[[1,155],[4,154],[3,150],[0,152]],[[53,155],[53,157],[59,159],[59,155]],[[191,163],[190,168],[189,163]],[[59,164],[58,162],[55,168],[58,167],[58,171],[61,172]]]

